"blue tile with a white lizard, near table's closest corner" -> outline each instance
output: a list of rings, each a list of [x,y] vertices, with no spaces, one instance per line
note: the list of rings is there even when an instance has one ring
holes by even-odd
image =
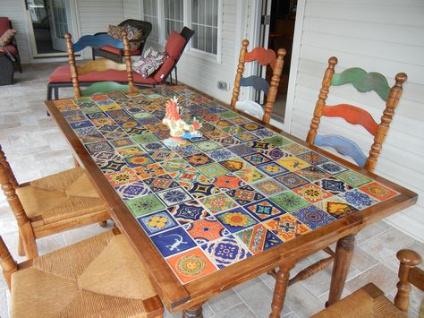
[[[183,228],[171,228],[155,236],[150,236],[150,239],[164,257],[186,251],[196,246],[196,243],[194,243]]]

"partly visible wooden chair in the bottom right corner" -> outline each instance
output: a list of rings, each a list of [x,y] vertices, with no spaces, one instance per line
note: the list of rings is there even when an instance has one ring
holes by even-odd
[[[421,262],[420,254],[412,250],[401,250],[396,256],[401,265],[394,304],[385,297],[380,288],[369,283],[313,317],[408,317],[411,284],[424,290],[424,271],[416,267]],[[424,316],[423,305],[424,303],[421,303],[420,317]]]

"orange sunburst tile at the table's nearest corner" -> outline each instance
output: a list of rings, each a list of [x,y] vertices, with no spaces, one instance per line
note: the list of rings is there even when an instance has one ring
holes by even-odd
[[[174,255],[166,259],[166,262],[168,262],[182,284],[216,271],[215,265],[209,261],[199,247]]]

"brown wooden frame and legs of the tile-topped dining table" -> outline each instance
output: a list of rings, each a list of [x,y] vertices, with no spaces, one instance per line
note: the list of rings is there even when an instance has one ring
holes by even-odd
[[[228,105],[209,97],[199,90],[192,89],[191,87],[187,88],[199,93],[199,95],[216,101],[216,103],[221,106],[229,108]],[[397,211],[402,211],[417,201],[418,195],[403,186],[396,185],[383,177],[358,168],[352,163],[336,157],[326,150],[321,150],[314,145],[303,142],[299,138],[284,133],[272,125],[261,123],[252,116],[235,111],[276,133],[282,134],[284,137],[293,140],[293,142],[298,142],[310,150],[314,150],[329,159],[333,159],[335,162],[347,168],[358,171],[362,175],[369,176],[379,183],[391,187],[400,194],[385,202],[379,202],[368,209],[353,213],[343,219],[335,220],[325,227],[310,231],[303,236],[299,236],[282,245],[275,246],[270,250],[250,257],[242,262],[237,262],[225,269],[208,274],[206,279],[199,278],[182,285],[165,262],[165,259],[158,253],[156,246],[151,243],[143,228],[140,227],[137,219],[132,216],[121,198],[114,192],[114,188],[108,183],[106,177],[100,171],[94,160],[91,159],[78,137],[72,132],[71,126],[68,125],[64,116],[62,116],[57,107],[55,107],[54,102],[46,101],[46,105],[49,113],[55,118],[55,122],[63,131],[65,138],[71,144],[74,157],[82,167],[86,168],[90,179],[98,188],[98,192],[109,205],[115,225],[129,238],[131,245],[140,255],[141,260],[146,264],[150,278],[155,283],[162,302],[171,312],[184,311],[182,314],[183,317],[202,317],[201,305],[208,301],[208,299],[228,288],[233,288],[246,280],[255,278],[277,267],[279,267],[280,270],[276,275],[276,288],[271,305],[272,313],[270,317],[279,317],[284,305],[289,271],[293,268],[295,263],[337,242],[335,265],[327,302],[327,305],[334,304],[342,295],[344,281],[352,259],[354,236],[356,233],[361,228],[365,228],[367,225],[384,219]],[[254,261],[252,262],[252,260]]]

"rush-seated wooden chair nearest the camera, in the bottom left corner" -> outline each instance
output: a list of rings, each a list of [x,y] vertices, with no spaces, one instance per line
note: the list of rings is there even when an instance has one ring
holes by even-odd
[[[131,244],[107,231],[17,264],[0,236],[11,317],[162,317],[163,305]]]

